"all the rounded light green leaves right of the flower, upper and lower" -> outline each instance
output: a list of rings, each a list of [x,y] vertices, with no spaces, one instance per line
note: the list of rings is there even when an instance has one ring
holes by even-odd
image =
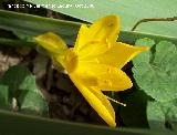
[[[147,118],[150,128],[177,127],[177,46],[162,41],[140,39],[136,45],[147,45],[149,51],[133,60],[134,79],[154,101],[147,104]]]

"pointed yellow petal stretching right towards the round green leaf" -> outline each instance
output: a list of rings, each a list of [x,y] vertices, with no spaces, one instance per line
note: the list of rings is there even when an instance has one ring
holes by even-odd
[[[97,63],[108,64],[122,69],[134,56],[147,50],[147,46],[133,46],[122,42],[116,42],[112,44],[105,53],[86,56],[83,61],[97,61]]]

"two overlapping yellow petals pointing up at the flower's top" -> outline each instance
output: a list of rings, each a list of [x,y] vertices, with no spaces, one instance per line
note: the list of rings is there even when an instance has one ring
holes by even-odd
[[[97,42],[115,42],[119,32],[119,19],[117,15],[107,15],[94,22],[90,28],[85,24],[81,25],[77,40],[75,43],[75,51],[87,48],[92,41]],[[85,49],[83,49],[85,50]]]

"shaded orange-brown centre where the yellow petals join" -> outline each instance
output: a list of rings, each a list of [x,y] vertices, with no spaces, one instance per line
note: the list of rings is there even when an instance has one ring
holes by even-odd
[[[69,73],[73,72],[77,66],[77,54],[70,48],[65,55],[66,71]]]

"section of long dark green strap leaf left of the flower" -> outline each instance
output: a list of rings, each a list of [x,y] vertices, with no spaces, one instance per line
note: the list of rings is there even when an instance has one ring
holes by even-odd
[[[72,44],[77,34],[80,23],[42,18],[25,13],[0,10],[0,28],[13,31],[23,40],[33,41],[33,37],[48,31],[61,35],[67,44]],[[40,27],[39,27],[40,24]]]

